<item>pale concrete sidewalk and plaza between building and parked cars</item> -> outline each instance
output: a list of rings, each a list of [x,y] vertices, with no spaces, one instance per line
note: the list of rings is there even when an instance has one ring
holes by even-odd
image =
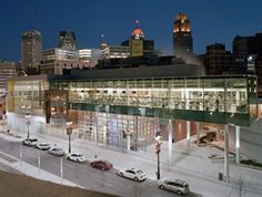
[[[14,131],[10,133],[16,134]],[[1,134],[7,139],[17,139],[14,136]],[[23,135],[24,134],[19,134]],[[57,144],[58,146],[68,151],[68,141],[57,138],[49,135],[37,135],[40,142]],[[149,178],[155,179],[157,170],[157,155],[154,147],[148,147],[147,152],[129,152],[123,149],[110,151],[107,145],[95,146],[85,141],[72,139],[72,152],[83,153],[89,160],[98,158],[110,160],[114,168],[137,167],[144,170]],[[115,149],[115,148],[114,148]],[[223,173],[223,160],[213,162],[208,158],[211,154],[222,155],[223,152],[214,147],[198,147],[191,144],[190,153],[187,152],[185,142],[181,141],[173,146],[172,166],[169,167],[168,160],[168,144],[163,143],[161,147],[161,179],[163,178],[180,178],[189,183],[192,190],[203,196],[238,196],[238,179],[244,184],[244,193],[242,196],[259,197],[262,196],[262,172],[249,169],[238,166],[234,162],[230,165],[230,183],[224,183],[218,179],[219,173]]]

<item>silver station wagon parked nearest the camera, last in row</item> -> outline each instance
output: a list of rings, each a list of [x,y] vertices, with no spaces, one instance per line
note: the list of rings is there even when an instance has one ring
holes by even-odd
[[[189,194],[190,191],[189,184],[180,179],[160,180],[158,185],[160,189],[170,190],[178,195]]]

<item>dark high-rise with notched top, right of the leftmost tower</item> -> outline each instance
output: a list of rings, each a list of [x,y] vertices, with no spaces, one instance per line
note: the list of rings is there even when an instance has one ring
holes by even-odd
[[[66,50],[75,50],[75,33],[73,31],[60,31],[59,48]]]

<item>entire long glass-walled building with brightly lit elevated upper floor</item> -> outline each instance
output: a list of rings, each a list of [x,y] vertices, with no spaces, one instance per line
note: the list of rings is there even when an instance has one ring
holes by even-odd
[[[119,69],[115,75],[111,71],[77,71],[10,79],[9,125],[27,131],[24,115],[30,113],[34,134],[67,137],[66,123],[70,121],[74,138],[142,151],[159,133],[168,139],[167,120],[177,132],[175,142],[184,137],[185,121],[191,122],[192,135],[195,122],[249,126],[256,117],[253,75],[173,76],[168,66],[147,69],[131,69],[134,74]]]

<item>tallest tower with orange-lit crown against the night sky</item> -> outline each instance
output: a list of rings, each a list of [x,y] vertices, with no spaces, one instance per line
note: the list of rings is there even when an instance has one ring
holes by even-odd
[[[191,25],[185,13],[180,12],[173,23],[173,51],[177,56],[193,52]]]

